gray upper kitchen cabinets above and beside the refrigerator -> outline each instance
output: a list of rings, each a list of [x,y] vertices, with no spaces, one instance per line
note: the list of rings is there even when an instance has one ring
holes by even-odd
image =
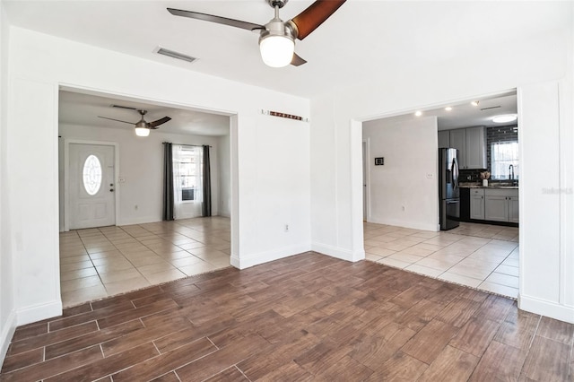
[[[458,149],[459,169],[486,169],[486,128],[484,126],[441,130],[439,131],[439,147]]]

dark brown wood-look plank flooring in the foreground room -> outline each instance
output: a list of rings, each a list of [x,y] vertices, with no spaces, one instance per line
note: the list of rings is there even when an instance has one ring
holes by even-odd
[[[574,381],[574,325],[369,261],[305,253],[19,327],[2,381]]]

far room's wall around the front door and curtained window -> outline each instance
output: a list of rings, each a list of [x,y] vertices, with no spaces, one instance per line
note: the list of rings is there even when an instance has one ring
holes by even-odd
[[[212,169],[212,213],[218,214],[220,197],[219,139],[213,136],[175,135],[154,130],[149,136],[137,137],[133,129],[102,128],[60,125],[59,134],[69,140],[118,143],[117,161],[119,177],[125,182],[116,183],[118,193],[117,225],[161,221],[163,194],[163,145],[162,142],[182,144],[208,144]],[[228,155],[229,159],[229,155]],[[229,168],[229,164],[228,164]],[[228,185],[229,187],[230,185]],[[230,192],[230,191],[228,191]],[[137,205],[137,209],[135,206]],[[60,205],[63,209],[64,205]]]

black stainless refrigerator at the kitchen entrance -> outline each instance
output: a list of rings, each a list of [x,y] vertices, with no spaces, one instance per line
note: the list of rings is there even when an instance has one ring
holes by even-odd
[[[451,230],[458,227],[460,221],[457,157],[457,149],[439,149],[440,230]]]

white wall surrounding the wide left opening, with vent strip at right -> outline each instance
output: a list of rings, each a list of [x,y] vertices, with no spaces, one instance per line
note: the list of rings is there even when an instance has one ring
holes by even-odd
[[[231,186],[238,202],[231,206],[231,263],[245,267],[309,250],[309,126],[258,113],[278,109],[309,116],[309,100],[15,27],[10,42],[7,193],[19,211],[9,213],[7,223],[12,228],[9,251],[19,325],[61,311],[59,86],[234,115]],[[276,160],[286,143],[300,143],[293,146],[296,158]],[[29,178],[22,175],[32,172],[40,174],[41,199],[32,197]],[[286,220],[293,227],[289,233],[283,232]]]

